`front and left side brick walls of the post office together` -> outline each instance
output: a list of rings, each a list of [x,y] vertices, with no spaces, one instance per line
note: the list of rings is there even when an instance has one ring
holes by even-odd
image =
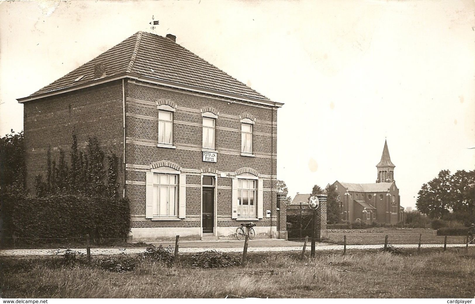
[[[201,179],[203,171],[217,176],[217,224],[238,226],[231,219],[231,178],[241,168],[257,172],[264,182],[264,218],[258,226],[277,226],[276,212],[276,107],[243,104],[209,95],[165,89],[157,85],[121,80],[95,85],[24,104],[27,187],[34,189],[34,178],[46,175],[47,149],[57,158],[59,148],[69,152],[73,131],[79,149],[84,150],[89,136],[96,136],[104,152],[119,157],[120,190],[131,201],[132,228],[200,227]],[[123,90],[125,93],[125,168],[123,162]],[[157,147],[157,104],[175,107],[173,145]],[[217,162],[202,161],[202,111],[218,114],[216,120]],[[254,157],[241,156],[240,119],[255,119]],[[179,221],[154,221],[145,218],[145,173],[157,161],[170,161],[186,174],[186,218]],[[221,177],[220,173],[226,174]],[[266,210],[272,211],[266,218]],[[281,209],[282,210],[282,209]],[[284,208],[285,210],[285,208]],[[282,213],[281,213],[282,215]],[[285,218],[280,217],[281,227]],[[283,226],[284,225],[284,226]]]

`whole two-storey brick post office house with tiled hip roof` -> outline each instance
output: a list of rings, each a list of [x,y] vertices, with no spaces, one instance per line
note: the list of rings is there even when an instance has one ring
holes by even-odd
[[[285,237],[276,202],[282,104],[175,36],[137,32],[18,101],[30,190],[45,175],[48,147],[67,155],[74,131],[80,148],[95,135],[120,157],[131,239],[233,237],[248,221],[257,237]]]

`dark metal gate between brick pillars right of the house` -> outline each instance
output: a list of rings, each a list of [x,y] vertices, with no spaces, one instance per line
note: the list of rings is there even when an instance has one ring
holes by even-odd
[[[312,212],[308,204],[287,205],[287,239],[305,239],[312,235]]]

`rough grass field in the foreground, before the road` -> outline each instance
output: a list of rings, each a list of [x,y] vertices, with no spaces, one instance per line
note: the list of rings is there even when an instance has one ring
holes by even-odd
[[[114,273],[62,258],[3,258],[7,298],[473,298],[475,250],[250,254],[245,267],[196,269],[143,261]],[[181,256],[180,259],[186,259]]]

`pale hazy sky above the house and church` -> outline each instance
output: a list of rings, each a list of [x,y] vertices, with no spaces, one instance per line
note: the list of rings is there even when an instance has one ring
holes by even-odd
[[[289,195],[371,183],[387,139],[401,206],[440,170],[475,167],[475,1],[0,2],[0,135],[25,97],[137,31],[183,47],[278,110]]]

